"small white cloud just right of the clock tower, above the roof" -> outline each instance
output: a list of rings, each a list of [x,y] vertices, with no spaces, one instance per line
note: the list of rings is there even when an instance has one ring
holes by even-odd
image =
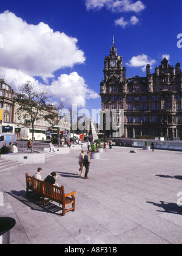
[[[133,56],[129,63],[126,63],[126,65],[129,67],[142,67],[142,70],[145,71],[147,64],[153,65],[155,62],[155,60],[150,59],[147,55],[141,54],[138,56]]]

